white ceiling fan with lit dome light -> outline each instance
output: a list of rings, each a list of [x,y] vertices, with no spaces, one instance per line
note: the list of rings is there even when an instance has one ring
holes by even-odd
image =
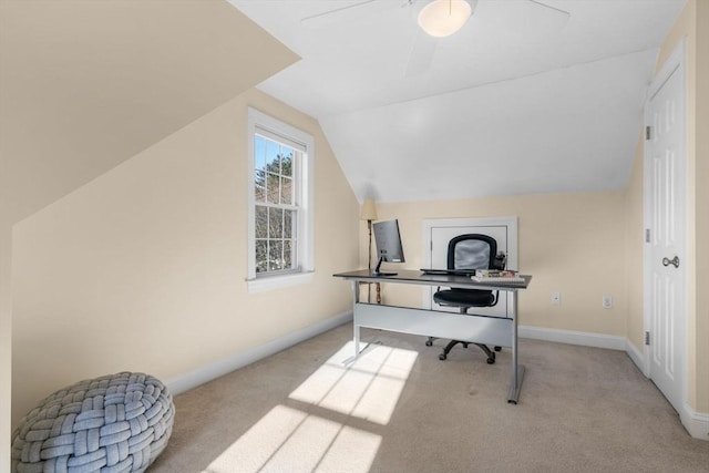
[[[366,25],[372,19],[391,22],[392,28],[405,24],[412,40],[404,75],[413,76],[429,70],[439,43],[465,28],[471,16],[481,22],[495,16],[510,16],[511,8],[513,16],[523,19],[523,24],[536,23],[547,30],[561,30],[569,17],[567,11],[538,0],[362,0],[311,14],[300,23],[302,30],[310,33],[345,24]]]

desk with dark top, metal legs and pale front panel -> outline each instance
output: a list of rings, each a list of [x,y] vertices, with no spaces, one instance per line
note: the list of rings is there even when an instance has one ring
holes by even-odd
[[[352,281],[356,357],[360,353],[360,327],[507,347],[512,349],[512,382],[507,402],[517,403],[524,379],[524,366],[517,363],[517,290],[526,289],[532,276],[524,276],[524,282],[512,284],[482,284],[466,276],[424,275],[421,271],[411,270],[399,270],[395,276],[372,276],[371,270],[360,269],[333,276]],[[489,317],[362,302],[359,300],[360,282],[510,291],[512,292],[512,317]]]

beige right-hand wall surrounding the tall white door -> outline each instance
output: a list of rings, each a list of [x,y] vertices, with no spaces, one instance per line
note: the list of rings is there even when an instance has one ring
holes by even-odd
[[[709,412],[709,2],[689,0],[665,39],[657,62],[659,71],[686,40],[687,74],[687,317],[688,402],[697,412]],[[638,144],[627,193],[628,232],[643,218],[643,153]],[[641,265],[641,253],[628,246],[628,267]],[[629,285],[628,338],[640,349],[643,291]]]

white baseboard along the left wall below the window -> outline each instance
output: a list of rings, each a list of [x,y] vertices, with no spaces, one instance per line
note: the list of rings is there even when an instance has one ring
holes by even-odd
[[[250,348],[246,351],[234,353],[229,357],[223,358],[222,360],[197,368],[196,370],[179,374],[165,381],[165,385],[173,394],[183,393],[234,370],[278,353],[279,351],[300,343],[301,341],[350,322],[351,320],[352,311],[350,310],[312,326],[296,330],[284,337],[277,338],[276,340],[259,345],[258,347]]]

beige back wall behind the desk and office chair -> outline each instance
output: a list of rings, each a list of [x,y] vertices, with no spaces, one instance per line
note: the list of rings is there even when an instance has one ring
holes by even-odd
[[[621,192],[543,194],[470,200],[379,204],[379,219],[398,218],[407,268],[423,261],[428,218],[517,216],[520,269],[534,276],[520,294],[520,322],[612,336],[626,335],[625,195]],[[360,259],[367,260],[366,240]],[[562,294],[551,305],[552,291]],[[603,309],[604,295],[614,307]],[[387,302],[419,307],[421,289],[386,285]]]

